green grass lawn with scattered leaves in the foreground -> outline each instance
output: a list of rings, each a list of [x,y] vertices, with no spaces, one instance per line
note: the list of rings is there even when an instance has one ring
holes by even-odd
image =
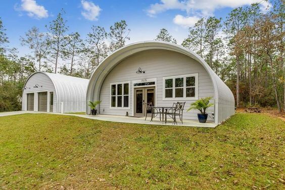
[[[0,117],[0,188],[282,189],[284,137],[285,122],[266,114],[214,129]]]

